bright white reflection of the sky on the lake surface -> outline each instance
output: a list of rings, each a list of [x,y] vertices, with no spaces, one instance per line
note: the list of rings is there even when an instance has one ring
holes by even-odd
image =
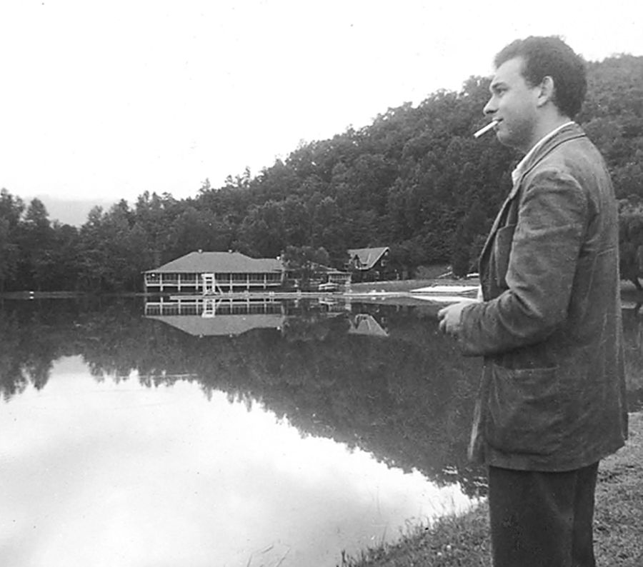
[[[468,502],[194,383],[51,375],[0,414],[3,565],[334,566]]]

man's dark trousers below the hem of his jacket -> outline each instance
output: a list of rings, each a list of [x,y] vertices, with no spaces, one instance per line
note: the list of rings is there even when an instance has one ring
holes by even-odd
[[[489,467],[494,567],[594,567],[598,463],[562,473]]]

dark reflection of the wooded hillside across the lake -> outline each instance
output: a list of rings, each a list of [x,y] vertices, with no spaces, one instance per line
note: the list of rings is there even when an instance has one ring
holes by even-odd
[[[139,300],[5,302],[0,390],[41,388],[52,361],[81,355],[93,376],[139,373],[146,386],[189,380],[286,417],[302,434],[360,447],[391,466],[476,493],[482,471],[466,448],[479,360],[437,333],[434,309],[353,306],[352,313],[287,309],[286,323],[239,336],[183,333],[139,315]],[[369,313],[388,336],[352,334]],[[641,388],[643,316],[624,311],[629,386]]]

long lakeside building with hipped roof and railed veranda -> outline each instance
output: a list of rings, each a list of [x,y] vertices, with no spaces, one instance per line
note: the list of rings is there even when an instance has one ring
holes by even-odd
[[[239,252],[190,252],[144,272],[145,291],[251,291],[281,286],[280,260]]]

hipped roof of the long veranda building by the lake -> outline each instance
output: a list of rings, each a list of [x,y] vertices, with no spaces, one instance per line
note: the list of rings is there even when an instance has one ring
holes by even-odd
[[[265,274],[282,270],[281,260],[277,259],[250,258],[240,252],[190,252],[145,274]]]

